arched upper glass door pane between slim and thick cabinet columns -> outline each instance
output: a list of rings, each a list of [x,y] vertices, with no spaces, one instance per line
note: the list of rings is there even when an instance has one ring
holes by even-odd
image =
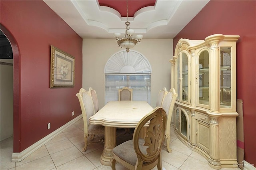
[[[209,52],[206,50],[198,58],[198,103],[209,105]]]

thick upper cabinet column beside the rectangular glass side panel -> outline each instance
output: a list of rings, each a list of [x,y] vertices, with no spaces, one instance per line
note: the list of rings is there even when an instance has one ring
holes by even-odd
[[[209,75],[209,84],[210,84],[210,111],[219,112],[220,111],[220,79],[219,79],[219,65],[220,58],[219,56],[219,40],[214,40],[210,42],[210,75]]]

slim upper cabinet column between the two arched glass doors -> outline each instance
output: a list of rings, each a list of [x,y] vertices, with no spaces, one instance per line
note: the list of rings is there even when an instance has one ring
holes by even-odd
[[[194,81],[196,80],[196,54],[195,54],[196,50],[192,49],[190,51],[190,56],[191,56],[191,80],[192,83],[190,83],[190,87],[191,87],[191,91],[192,93],[190,93],[191,96],[191,101],[190,104],[191,106],[195,106],[195,99],[196,99],[196,93],[194,93],[196,91],[196,84],[194,83]]]

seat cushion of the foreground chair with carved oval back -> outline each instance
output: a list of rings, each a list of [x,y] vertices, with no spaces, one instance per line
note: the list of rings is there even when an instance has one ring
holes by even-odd
[[[146,149],[148,146],[143,146],[145,143],[144,139],[139,139],[140,150],[143,154],[147,154]],[[119,158],[135,166],[137,162],[137,155],[133,147],[133,140],[128,140],[113,149],[113,153]]]

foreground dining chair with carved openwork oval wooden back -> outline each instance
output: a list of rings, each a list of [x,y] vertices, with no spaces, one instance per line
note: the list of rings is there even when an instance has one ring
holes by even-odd
[[[136,126],[133,139],[113,149],[113,158],[110,160],[112,170],[116,169],[116,161],[130,170],[150,170],[155,166],[162,170],[161,150],[166,119],[166,113],[160,107],[145,115]],[[140,131],[147,123],[145,138],[139,138]]]

